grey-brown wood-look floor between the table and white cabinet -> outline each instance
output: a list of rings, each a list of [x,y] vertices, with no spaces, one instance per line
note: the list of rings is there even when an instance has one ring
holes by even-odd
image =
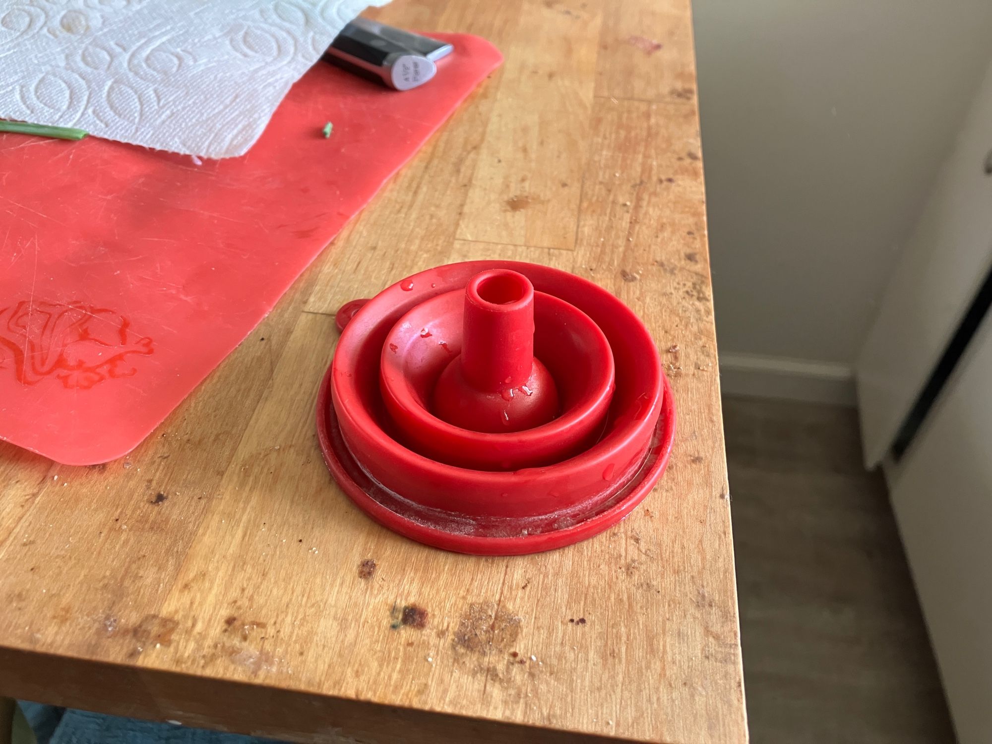
[[[953,742],[854,412],[727,396],[723,415],[752,742]]]

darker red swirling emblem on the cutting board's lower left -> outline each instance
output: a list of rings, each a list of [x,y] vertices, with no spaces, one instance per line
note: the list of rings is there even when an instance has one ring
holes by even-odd
[[[130,325],[105,308],[22,300],[0,309],[0,368],[6,356],[22,385],[55,377],[67,390],[130,377],[137,372],[133,357],[154,353],[152,339],[136,335]]]

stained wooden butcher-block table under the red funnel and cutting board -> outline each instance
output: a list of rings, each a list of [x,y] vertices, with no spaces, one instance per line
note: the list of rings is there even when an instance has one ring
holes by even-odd
[[[745,741],[688,0],[375,15],[506,62],[130,456],[0,446],[0,693],[301,742]],[[675,389],[660,485],[554,553],[399,538],[316,446],[334,310],[482,258],[615,292]]]

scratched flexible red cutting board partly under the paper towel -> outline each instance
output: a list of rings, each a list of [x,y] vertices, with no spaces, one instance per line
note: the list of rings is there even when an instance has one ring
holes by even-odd
[[[0,134],[0,439],[93,464],[151,433],[502,61],[437,38],[405,92],[316,64],[241,158]]]

